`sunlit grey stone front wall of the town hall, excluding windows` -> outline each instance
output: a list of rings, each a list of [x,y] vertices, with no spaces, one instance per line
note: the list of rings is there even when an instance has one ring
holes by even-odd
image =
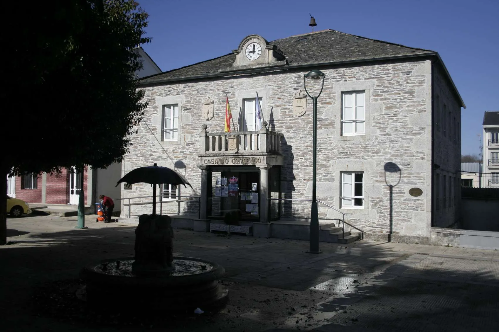
[[[393,184],[393,231],[406,235],[429,235],[431,211],[431,65],[430,61],[392,62],[345,68],[318,68],[325,73],[324,90],[317,105],[317,198],[340,207],[341,171],[365,172],[364,209],[342,209],[345,220],[369,233],[390,229],[390,193]],[[199,137],[201,125],[209,132],[224,131],[225,98],[229,97],[235,122],[244,98],[263,98],[261,106],[270,129],[283,133],[284,166],[281,169],[282,198],[310,198],[312,177],[312,100],[307,111],[297,117],[292,112],[292,96],[303,89],[307,71],[272,72],[219,79],[172,83],[145,87],[149,102],[132,138],[133,146],[123,163],[123,174],[133,168],[153,165],[180,170],[194,189],[183,194],[200,195]],[[366,135],[341,136],[341,93],[365,91]],[[205,121],[201,107],[206,98],[215,100],[215,116]],[[160,140],[161,106],[180,106],[179,142]],[[149,126],[150,131],[145,123]],[[400,172],[385,172],[386,163]],[[399,179],[400,175],[400,181]],[[412,187],[423,190],[419,197],[408,194]],[[148,184],[123,190],[123,197],[152,194]],[[281,213],[308,218],[310,203],[286,201]],[[197,206],[192,205],[197,212]],[[150,205],[134,208],[132,214],[150,213]],[[123,211],[123,209],[122,209]],[[319,204],[322,217],[339,213]]]

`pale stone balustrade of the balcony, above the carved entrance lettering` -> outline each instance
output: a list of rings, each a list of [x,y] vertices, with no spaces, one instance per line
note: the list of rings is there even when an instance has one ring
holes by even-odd
[[[266,128],[254,132],[208,133],[203,128],[199,134],[200,154],[234,154],[239,152],[275,153],[281,151],[281,137]]]

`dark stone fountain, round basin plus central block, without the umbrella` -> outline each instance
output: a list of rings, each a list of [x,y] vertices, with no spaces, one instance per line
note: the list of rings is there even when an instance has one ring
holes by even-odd
[[[92,308],[134,312],[216,310],[228,300],[218,284],[225,270],[217,263],[176,257],[167,215],[143,214],[135,230],[135,257],[113,258],[83,268],[86,301]]]

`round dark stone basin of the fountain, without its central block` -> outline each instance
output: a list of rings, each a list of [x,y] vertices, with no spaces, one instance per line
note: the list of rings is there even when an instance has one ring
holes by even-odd
[[[103,310],[164,313],[217,309],[227,303],[228,291],[218,283],[225,269],[217,263],[176,256],[173,270],[137,275],[133,262],[133,257],[114,258],[83,268],[80,278],[86,282],[87,304]]]

